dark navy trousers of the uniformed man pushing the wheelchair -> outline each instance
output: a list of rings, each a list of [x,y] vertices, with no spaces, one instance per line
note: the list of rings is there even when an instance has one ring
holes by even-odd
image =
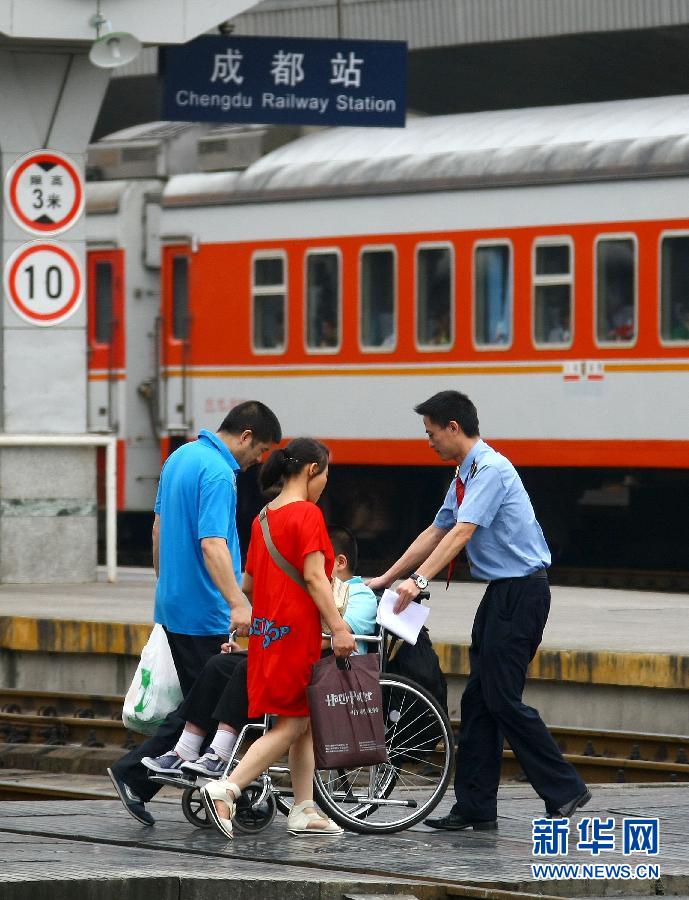
[[[478,821],[496,818],[503,737],[548,812],[585,790],[537,710],[522,702],[526,670],[549,610],[546,578],[505,578],[488,585],[471,632],[453,812]]]

